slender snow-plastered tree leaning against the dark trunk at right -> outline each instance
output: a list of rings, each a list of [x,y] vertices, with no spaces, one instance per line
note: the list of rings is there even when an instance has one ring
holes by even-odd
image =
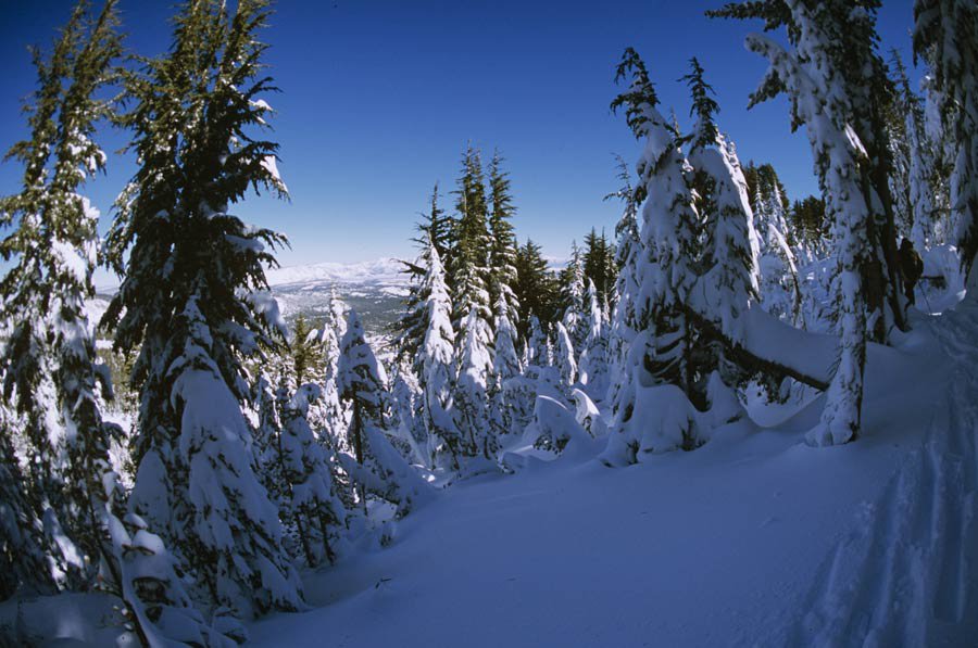
[[[788,7],[798,28],[795,52],[787,52],[764,36],[748,37],[749,49],[770,63],[752,102],[781,90],[787,92],[794,118],[806,127],[826,213],[832,221],[839,268],[840,358],[822,421],[808,433],[808,440],[817,445],[840,444],[858,434],[866,365],[867,297],[863,274],[874,256],[868,240],[872,214],[861,185],[860,164],[866,150],[850,125],[852,104],[833,51],[843,23],[827,13],[828,8],[813,10],[799,0],[789,0]]]

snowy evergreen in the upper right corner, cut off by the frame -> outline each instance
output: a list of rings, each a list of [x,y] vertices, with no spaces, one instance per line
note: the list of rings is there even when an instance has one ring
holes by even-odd
[[[971,0],[916,0],[914,52],[930,68],[936,106],[953,160],[952,218],[970,294],[978,293],[978,7]]]

